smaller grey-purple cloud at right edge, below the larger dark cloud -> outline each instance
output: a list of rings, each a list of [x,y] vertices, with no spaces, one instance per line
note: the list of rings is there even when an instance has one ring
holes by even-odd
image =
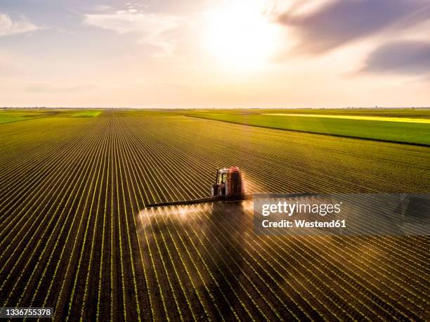
[[[362,71],[430,76],[430,42],[395,41],[384,44],[370,53]]]

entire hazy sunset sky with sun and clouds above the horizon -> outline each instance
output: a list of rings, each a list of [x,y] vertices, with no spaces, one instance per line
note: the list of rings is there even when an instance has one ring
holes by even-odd
[[[0,0],[0,106],[429,105],[428,0]]]

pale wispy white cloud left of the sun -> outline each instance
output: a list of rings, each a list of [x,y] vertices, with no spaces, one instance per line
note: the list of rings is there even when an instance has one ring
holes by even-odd
[[[137,34],[140,43],[156,46],[165,53],[169,53],[174,46],[174,39],[169,39],[167,32],[174,30],[183,21],[177,16],[129,11],[84,15],[86,25],[118,34]]]

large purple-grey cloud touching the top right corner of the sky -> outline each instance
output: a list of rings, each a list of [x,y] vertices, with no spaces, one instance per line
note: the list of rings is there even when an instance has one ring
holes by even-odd
[[[292,10],[278,17],[297,31],[299,49],[308,53],[324,53],[387,27],[405,28],[428,19],[425,0],[335,0],[310,13]]]

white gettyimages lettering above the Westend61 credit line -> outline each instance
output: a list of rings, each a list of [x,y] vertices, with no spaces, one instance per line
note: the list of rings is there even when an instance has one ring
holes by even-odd
[[[326,214],[339,214],[341,212],[341,204],[342,202],[335,204],[308,204],[308,203],[299,203],[298,201],[295,203],[289,203],[287,201],[278,201],[278,203],[266,203],[261,206],[261,214],[263,216],[268,216],[269,214],[278,213],[278,214],[287,214],[288,216],[292,216],[292,214],[320,214],[320,216],[325,216]]]

